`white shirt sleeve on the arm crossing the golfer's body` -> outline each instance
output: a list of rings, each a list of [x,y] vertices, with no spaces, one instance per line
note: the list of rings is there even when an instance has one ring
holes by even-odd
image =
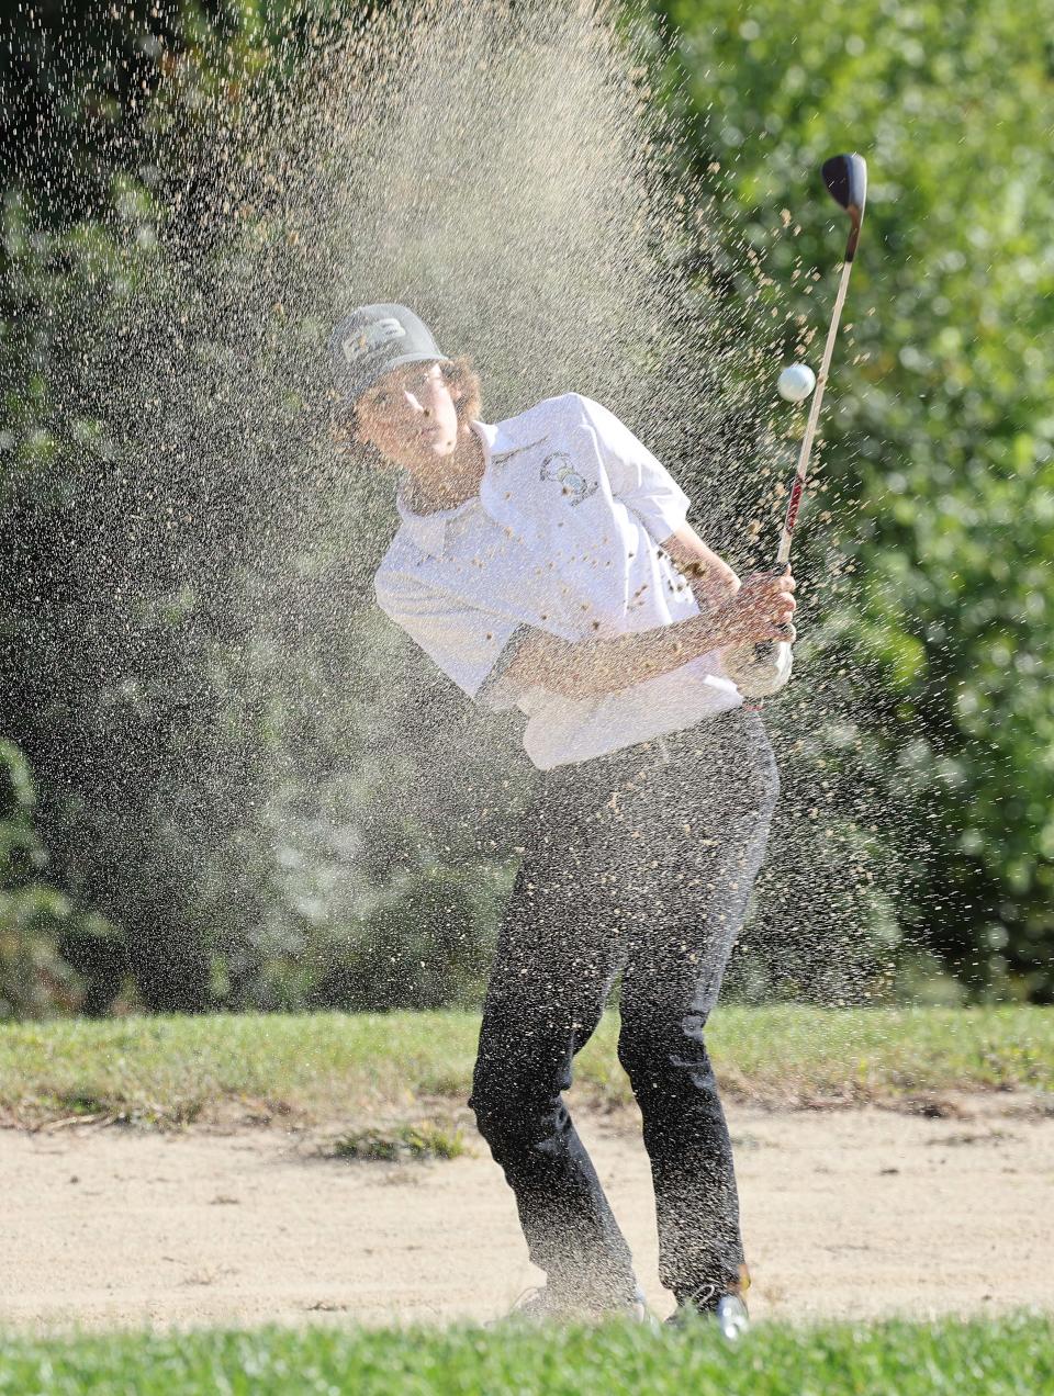
[[[402,585],[378,572],[377,604],[416,641],[429,659],[469,698],[503,712],[514,708],[517,690],[504,678],[525,631],[521,621],[469,606],[430,586]],[[515,638],[514,638],[515,637]]]

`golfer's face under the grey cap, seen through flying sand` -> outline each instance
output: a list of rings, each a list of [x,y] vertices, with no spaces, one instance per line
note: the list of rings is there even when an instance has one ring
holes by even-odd
[[[458,444],[458,410],[437,363],[392,369],[356,403],[357,436],[405,469],[450,455]]]

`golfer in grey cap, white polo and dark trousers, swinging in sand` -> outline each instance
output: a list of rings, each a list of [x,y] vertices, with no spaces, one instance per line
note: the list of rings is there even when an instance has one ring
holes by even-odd
[[[704,1029],[778,778],[720,651],[793,638],[794,581],[743,584],[609,410],[568,394],[490,426],[479,380],[403,306],[334,331],[338,440],[398,477],[381,609],[470,699],[518,708],[543,772],[483,1009],[472,1108],[546,1275],[537,1316],[644,1316],[628,1245],[563,1100],[621,974],[662,1283],[745,1326],[732,1143]],[[676,1316],[676,1315],[674,1315]]]

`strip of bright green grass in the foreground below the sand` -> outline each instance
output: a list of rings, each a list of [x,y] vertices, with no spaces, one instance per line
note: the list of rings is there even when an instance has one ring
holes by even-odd
[[[736,1349],[709,1326],[258,1329],[32,1340],[0,1356],[0,1396],[1039,1396],[1054,1321],[761,1326]]]

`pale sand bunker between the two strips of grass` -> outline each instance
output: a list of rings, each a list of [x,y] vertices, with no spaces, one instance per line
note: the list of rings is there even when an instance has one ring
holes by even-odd
[[[1000,1106],[1005,1107],[1005,1097]],[[752,1311],[875,1316],[1054,1308],[1054,1120],[733,1108]],[[584,1121],[658,1312],[648,1161]],[[278,1129],[0,1132],[0,1322],[448,1322],[537,1276],[483,1145],[431,1164],[341,1163]]]

